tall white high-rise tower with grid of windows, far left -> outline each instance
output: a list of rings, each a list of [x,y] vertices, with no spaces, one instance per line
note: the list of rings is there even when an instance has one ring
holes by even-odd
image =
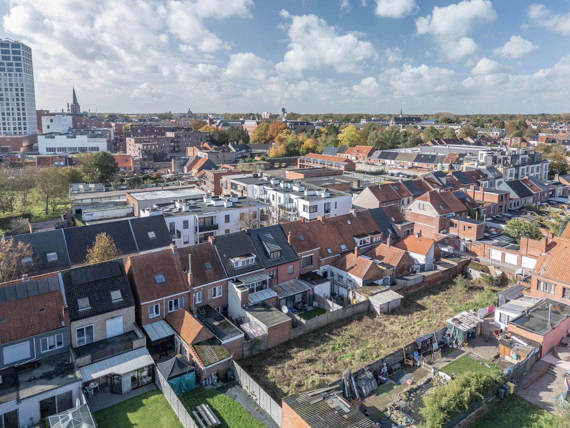
[[[0,78],[2,135],[37,134],[34,68],[29,46],[0,39]]]

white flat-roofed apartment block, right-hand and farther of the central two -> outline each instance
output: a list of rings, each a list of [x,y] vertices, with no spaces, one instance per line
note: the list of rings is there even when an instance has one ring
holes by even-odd
[[[248,196],[269,205],[271,223],[317,216],[336,217],[348,214],[352,196],[338,190],[304,183],[302,180],[279,180],[275,177],[230,175],[222,179],[225,194]]]

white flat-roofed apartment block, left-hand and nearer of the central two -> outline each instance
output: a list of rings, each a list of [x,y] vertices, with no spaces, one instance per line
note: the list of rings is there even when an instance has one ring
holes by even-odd
[[[139,216],[164,216],[172,241],[177,247],[188,247],[206,242],[210,236],[259,227],[260,209],[264,207],[266,204],[249,197],[196,195],[158,202],[152,208],[140,209]]]

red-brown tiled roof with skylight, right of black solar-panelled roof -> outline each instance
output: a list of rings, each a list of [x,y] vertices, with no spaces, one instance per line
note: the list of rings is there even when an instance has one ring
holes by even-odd
[[[133,294],[148,302],[188,291],[178,257],[171,249],[129,256],[125,264]],[[156,284],[154,275],[162,273],[166,282]]]

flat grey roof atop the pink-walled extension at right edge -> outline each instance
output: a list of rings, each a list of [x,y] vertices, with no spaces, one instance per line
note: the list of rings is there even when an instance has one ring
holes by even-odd
[[[570,305],[546,298],[536,306],[528,308],[521,316],[510,320],[509,323],[528,332],[544,336],[559,326],[568,316],[570,316]]]

